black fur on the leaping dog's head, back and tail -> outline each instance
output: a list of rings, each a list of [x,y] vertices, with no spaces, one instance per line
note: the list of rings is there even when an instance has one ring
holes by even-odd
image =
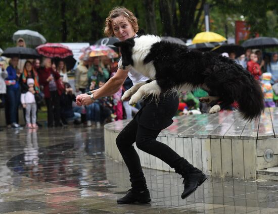
[[[136,41],[135,41],[136,42]],[[115,44],[121,46],[123,66],[133,65],[130,38]],[[221,107],[234,101],[239,103],[239,111],[246,120],[258,118],[264,110],[263,93],[259,82],[233,60],[214,52],[201,52],[185,45],[167,41],[151,46],[144,64],[153,62],[157,84],[162,91],[191,84],[218,96]]]

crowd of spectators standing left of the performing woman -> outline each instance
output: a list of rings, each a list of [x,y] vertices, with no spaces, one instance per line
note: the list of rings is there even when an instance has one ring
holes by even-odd
[[[80,61],[72,78],[75,89],[69,83],[63,60],[25,60],[22,69],[19,61],[14,57],[7,66],[0,63],[0,98],[8,128],[21,127],[19,111],[23,111],[26,128],[38,128],[41,125],[37,123],[37,112],[43,105],[47,107],[48,127],[73,123],[100,128],[107,122],[131,119],[132,112],[138,111],[121,100],[122,93],[132,87],[130,79],[112,96],[102,97],[88,106],[75,104],[76,95],[102,87],[117,71],[117,63],[106,56],[84,57]]]

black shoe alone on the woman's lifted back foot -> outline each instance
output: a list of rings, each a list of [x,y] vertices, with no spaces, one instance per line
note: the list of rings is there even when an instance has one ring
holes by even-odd
[[[183,176],[182,176],[183,177]],[[184,184],[184,190],[181,194],[181,198],[184,199],[190,196],[205,180],[207,180],[207,176],[200,173],[191,173],[187,174],[184,177],[182,184]]]

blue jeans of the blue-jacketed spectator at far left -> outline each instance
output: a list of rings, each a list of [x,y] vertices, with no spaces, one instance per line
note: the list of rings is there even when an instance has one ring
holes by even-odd
[[[20,88],[7,87],[7,103],[9,105],[9,122],[16,123],[20,103]]]

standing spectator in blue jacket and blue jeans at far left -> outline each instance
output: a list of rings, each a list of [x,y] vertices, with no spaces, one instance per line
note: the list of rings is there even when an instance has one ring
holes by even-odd
[[[8,77],[5,79],[7,86],[7,102],[6,102],[6,111],[9,111],[8,127],[20,128],[18,121],[18,107],[20,104],[20,72],[18,69],[17,57],[13,57],[10,61],[10,66],[7,68]]]

